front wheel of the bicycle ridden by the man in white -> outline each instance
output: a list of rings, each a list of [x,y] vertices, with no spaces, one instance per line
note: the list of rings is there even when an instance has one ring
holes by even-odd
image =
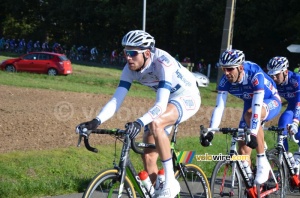
[[[121,177],[116,169],[104,170],[92,179],[82,197],[119,197],[120,179]],[[136,198],[134,187],[128,177],[125,177],[123,191],[120,195]]]

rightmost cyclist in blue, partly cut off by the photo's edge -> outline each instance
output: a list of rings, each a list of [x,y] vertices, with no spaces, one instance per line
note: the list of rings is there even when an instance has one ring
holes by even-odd
[[[287,134],[287,125],[291,134],[296,134],[295,138],[300,140],[299,118],[300,118],[300,75],[288,70],[289,61],[286,57],[275,56],[267,64],[268,74],[277,84],[278,93],[287,102],[287,108],[281,114],[278,120],[278,127],[285,128],[284,134]],[[298,143],[300,146],[300,143]],[[284,140],[284,147],[288,151],[288,141]],[[298,162],[300,153],[294,153],[295,162]],[[298,164],[295,164],[297,166]]]

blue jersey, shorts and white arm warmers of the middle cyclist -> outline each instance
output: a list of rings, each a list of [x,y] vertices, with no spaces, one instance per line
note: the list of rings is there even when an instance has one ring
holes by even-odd
[[[210,126],[215,128],[220,125],[228,93],[244,101],[244,113],[252,108],[250,122],[251,133],[257,134],[261,121],[268,121],[274,118],[281,109],[281,100],[278,95],[275,82],[257,64],[245,61],[244,72],[240,82],[231,83],[223,75],[218,85],[217,105],[214,109]],[[262,106],[266,109],[266,117],[261,118]],[[242,115],[239,127],[245,127],[244,116]]]

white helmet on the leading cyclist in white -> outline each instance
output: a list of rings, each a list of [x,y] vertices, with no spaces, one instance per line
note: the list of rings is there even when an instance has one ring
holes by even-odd
[[[122,39],[123,47],[130,46],[141,49],[152,49],[154,45],[154,37],[143,30],[130,31]]]

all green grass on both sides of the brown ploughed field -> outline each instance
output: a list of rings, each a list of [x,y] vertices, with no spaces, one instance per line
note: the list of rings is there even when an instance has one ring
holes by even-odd
[[[0,61],[7,59],[0,56]],[[113,94],[119,83],[120,68],[93,67],[73,64],[74,73],[69,76],[47,76],[31,73],[7,73],[0,71],[0,84],[17,87],[31,87],[71,92]],[[215,106],[216,82],[200,88],[202,106]],[[138,83],[132,85],[129,95],[155,99],[155,93]],[[241,108],[242,102],[230,96],[227,107]],[[266,135],[269,136],[270,134]],[[272,137],[270,137],[272,140]],[[270,141],[271,141],[270,140]],[[227,142],[227,143],[226,143]],[[291,149],[294,149],[291,145]],[[216,134],[213,146],[204,148],[199,137],[178,139],[178,150],[195,150],[197,155],[226,154],[230,138]],[[113,167],[114,144],[97,145],[99,154],[84,148],[61,148],[42,151],[18,151],[0,154],[0,197],[44,197],[82,192],[93,176],[100,170]],[[120,150],[118,144],[117,150]],[[255,154],[255,152],[253,152]],[[119,153],[117,152],[117,156]],[[254,155],[255,156],[255,155]],[[131,152],[131,159],[137,171],[142,169],[140,157]],[[255,158],[254,158],[255,159]],[[211,176],[215,162],[196,161]]]

